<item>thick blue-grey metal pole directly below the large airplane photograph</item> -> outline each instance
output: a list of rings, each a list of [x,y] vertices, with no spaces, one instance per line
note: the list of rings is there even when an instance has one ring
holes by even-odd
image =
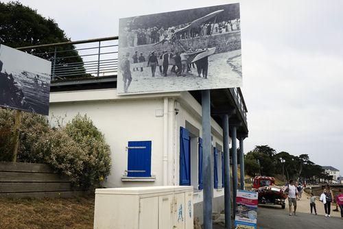
[[[213,179],[211,174],[211,98],[210,91],[202,91],[202,176],[204,178],[204,229],[212,229]]]

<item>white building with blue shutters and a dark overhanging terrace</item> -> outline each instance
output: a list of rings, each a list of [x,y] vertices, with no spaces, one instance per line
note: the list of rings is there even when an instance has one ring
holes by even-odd
[[[104,133],[112,158],[106,187],[192,185],[195,215],[202,221],[200,91],[118,96],[116,82],[117,77],[97,77],[52,84],[50,118],[69,121],[86,114]],[[211,91],[213,212],[224,210],[221,115],[232,109],[229,123],[239,125],[237,138],[246,137],[240,89]]]

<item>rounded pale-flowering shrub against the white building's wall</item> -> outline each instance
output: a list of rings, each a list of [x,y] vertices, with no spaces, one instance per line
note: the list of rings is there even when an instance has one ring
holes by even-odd
[[[76,115],[64,131],[86,152],[82,182],[86,186],[96,186],[110,173],[110,147],[104,134],[86,115]]]

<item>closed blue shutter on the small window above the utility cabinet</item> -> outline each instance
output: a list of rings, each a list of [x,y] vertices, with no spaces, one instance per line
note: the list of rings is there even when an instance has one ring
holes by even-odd
[[[151,176],[151,141],[128,142],[128,176]]]

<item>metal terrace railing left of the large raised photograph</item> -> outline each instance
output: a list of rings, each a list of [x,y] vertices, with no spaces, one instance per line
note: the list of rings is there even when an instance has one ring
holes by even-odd
[[[117,36],[18,49],[51,61],[52,80],[117,75]]]

